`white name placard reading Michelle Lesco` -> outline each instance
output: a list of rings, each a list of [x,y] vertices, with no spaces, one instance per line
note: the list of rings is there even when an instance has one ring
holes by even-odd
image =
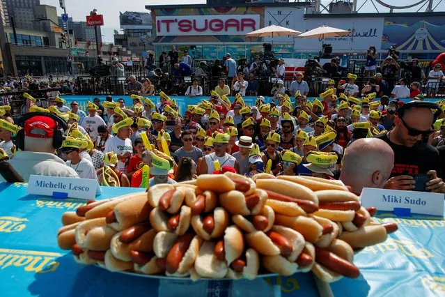
[[[60,198],[94,199],[99,184],[95,179],[57,176],[29,176],[28,193]]]

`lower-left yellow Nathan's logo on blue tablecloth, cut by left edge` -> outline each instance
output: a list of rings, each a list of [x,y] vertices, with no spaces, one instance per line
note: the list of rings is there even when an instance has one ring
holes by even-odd
[[[22,267],[24,271],[31,273],[54,272],[60,265],[56,258],[61,256],[63,255],[57,252],[0,248],[0,270]]]

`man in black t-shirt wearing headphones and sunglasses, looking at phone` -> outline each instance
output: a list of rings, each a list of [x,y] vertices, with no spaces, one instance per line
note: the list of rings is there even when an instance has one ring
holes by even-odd
[[[442,178],[437,178],[437,172],[440,172],[439,152],[423,141],[433,132],[432,122],[431,109],[411,107],[405,109],[403,118],[396,118],[393,130],[376,136],[394,151],[394,167],[385,188],[412,190],[415,182],[410,174],[428,174],[430,181],[426,183],[426,190],[445,192],[445,183]]]

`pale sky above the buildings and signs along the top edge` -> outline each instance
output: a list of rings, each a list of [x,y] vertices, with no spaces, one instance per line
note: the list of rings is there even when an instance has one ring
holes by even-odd
[[[358,0],[357,8],[361,6],[366,0]],[[416,3],[419,0],[384,0],[386,3],[391,3],[393,6],[407,6],[412,3]],[[94,3],[95,2],[95,3]],[[90,11],[93,8],[97,9],[97,13],[104,15],[104,26],[102,26],[102,40],[104,42],[113,42],[114,41],[114,30],[119,30],[119,12],[125,11],[137,11],[137,12],[148,12],[145,9],[145,6],[150,4],[177,4],[180,2],[181,4],[194,4],[194,3],[205,3],[205,0],[130,0],[130,1],[122,1],[122,0],[99,0],[99,1],[91,1],[91,0],[65,0],[66,11],[70,17],[75,21],[84,21],[86,20],[86,15],[89,15]],[[326,6],[329,5],[330,0],[322,0],[322,3]],[[433,1],[433,7],[439,3],[440,0]],[[62,9],[58,6],[58,0],[40,0],[42,4],[48,4],[51,6],[57,7],[57,14],[61,15],[63,13]],[[92,4],[93,3],[93,4]],[[380,6],[380,4],[375,3],[377,9],[380,13],[389,12],[389,8],[384,8]],[[419,9],[411,8],[405,11],[416,11]],[[403,10],[397,10],[403,11]],[[423,10],[425,11],[425,7]],[[445,11],[445,1],[439,3],[439,6],[435,9],[435,11]],[[359,10],[360,13],[376,13],[375,8],[370,0],[366,1],[363,8]]]

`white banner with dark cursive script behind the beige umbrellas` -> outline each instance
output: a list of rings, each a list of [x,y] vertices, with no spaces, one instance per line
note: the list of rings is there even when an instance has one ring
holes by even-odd
[[[348,36],[325,38],[296,38],[295,50],[321,50],[322,44],[330,44],[333,52],[339,50],[364,51],[373,45],[380,50],[383,34],[383,17],[323,17],[297,22],[297,31],[306,32],[322,25],[349,30]]]

